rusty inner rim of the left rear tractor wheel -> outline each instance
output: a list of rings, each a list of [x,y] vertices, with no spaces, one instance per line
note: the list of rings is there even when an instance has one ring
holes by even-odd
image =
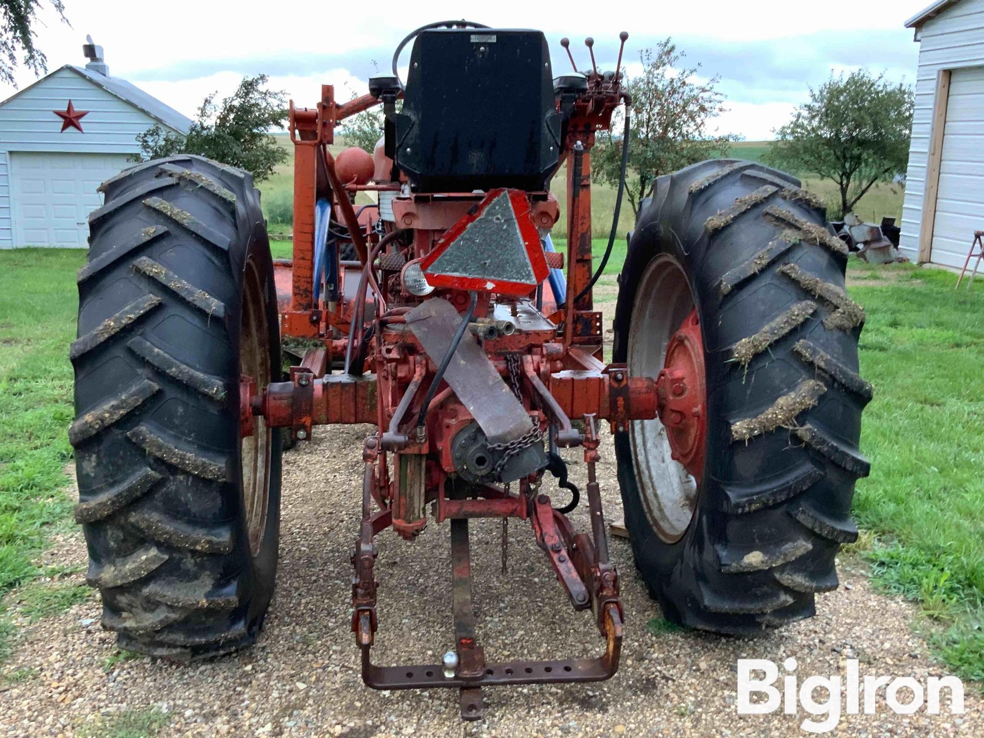
[[[255,262],[250,259],[246,262],[243,289],[239,361],[241,374],[254,379],[255,386],[261,389],[270,384],[273,374],[270,363],[270,325],[266,308],[263,281]],[[246,528],[250,553],[256,556],[267,527],[273,434],[262,415],[257,415],[254,420],[256,425],[253,435],[246,436],[241,441],[241,457]]]

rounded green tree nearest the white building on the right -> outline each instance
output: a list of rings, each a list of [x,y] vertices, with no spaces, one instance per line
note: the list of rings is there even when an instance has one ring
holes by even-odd
[[[775,131],[766,163],[837,185],[831,215],[850,213],[878,182],[905,171],[912,129],[912,88],[864,69],[810,89],[810,101]]]

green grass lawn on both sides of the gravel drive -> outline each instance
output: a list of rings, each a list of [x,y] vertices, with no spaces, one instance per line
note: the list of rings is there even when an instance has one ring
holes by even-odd
[[[605,244],[595,239],[598,258]],[[275,242],[280,256],[289,247]],[[606,274],[624,258],[620,240]],[[72,524],[62,491],[73,417],[67,355],[84,260],[81,251],[0,251],[0,596],[40,574],[31,560],[45,538]],[[858,548],[878,584],[921,603],[920,627],[950,666],[984,680],[984,286],[957,292],[949,272],[856,260],[849,276],[868,312],[862,373],[876,388],[861,443],[872,474],[855,498],[873,536]],[[0,612],[40,617],[83,596],[31,588],[39,584],[17,602],[0,600]],[[0,642],[10,631],[0,615]]]

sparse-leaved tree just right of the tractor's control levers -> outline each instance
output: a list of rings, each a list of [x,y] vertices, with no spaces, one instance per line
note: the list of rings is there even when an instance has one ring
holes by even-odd
[[[639,54],[643,73],[625,77],[632,95],[632,133],[626,173],[626,197],[633,213],[649,194],[656,177],[724,154],[736,136],[711,130],[725,111],[724,94],[716,90],[719,77],[701,81],[700,65],[682,67],[685,54],[671,38]],[[599,132],[591,154],[593,178],[617,185],[622,159],[622,128]]]

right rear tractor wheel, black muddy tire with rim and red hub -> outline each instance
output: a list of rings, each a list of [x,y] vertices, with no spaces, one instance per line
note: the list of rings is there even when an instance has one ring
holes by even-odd
[[[748,635],[810,617],[857,537],[872,390],[824,215],[798,180],[736,160],[660,177],[641,209],[614,360],[665,368],[667,396],[690,403],[615,448],[636,565],[670,621]]]

